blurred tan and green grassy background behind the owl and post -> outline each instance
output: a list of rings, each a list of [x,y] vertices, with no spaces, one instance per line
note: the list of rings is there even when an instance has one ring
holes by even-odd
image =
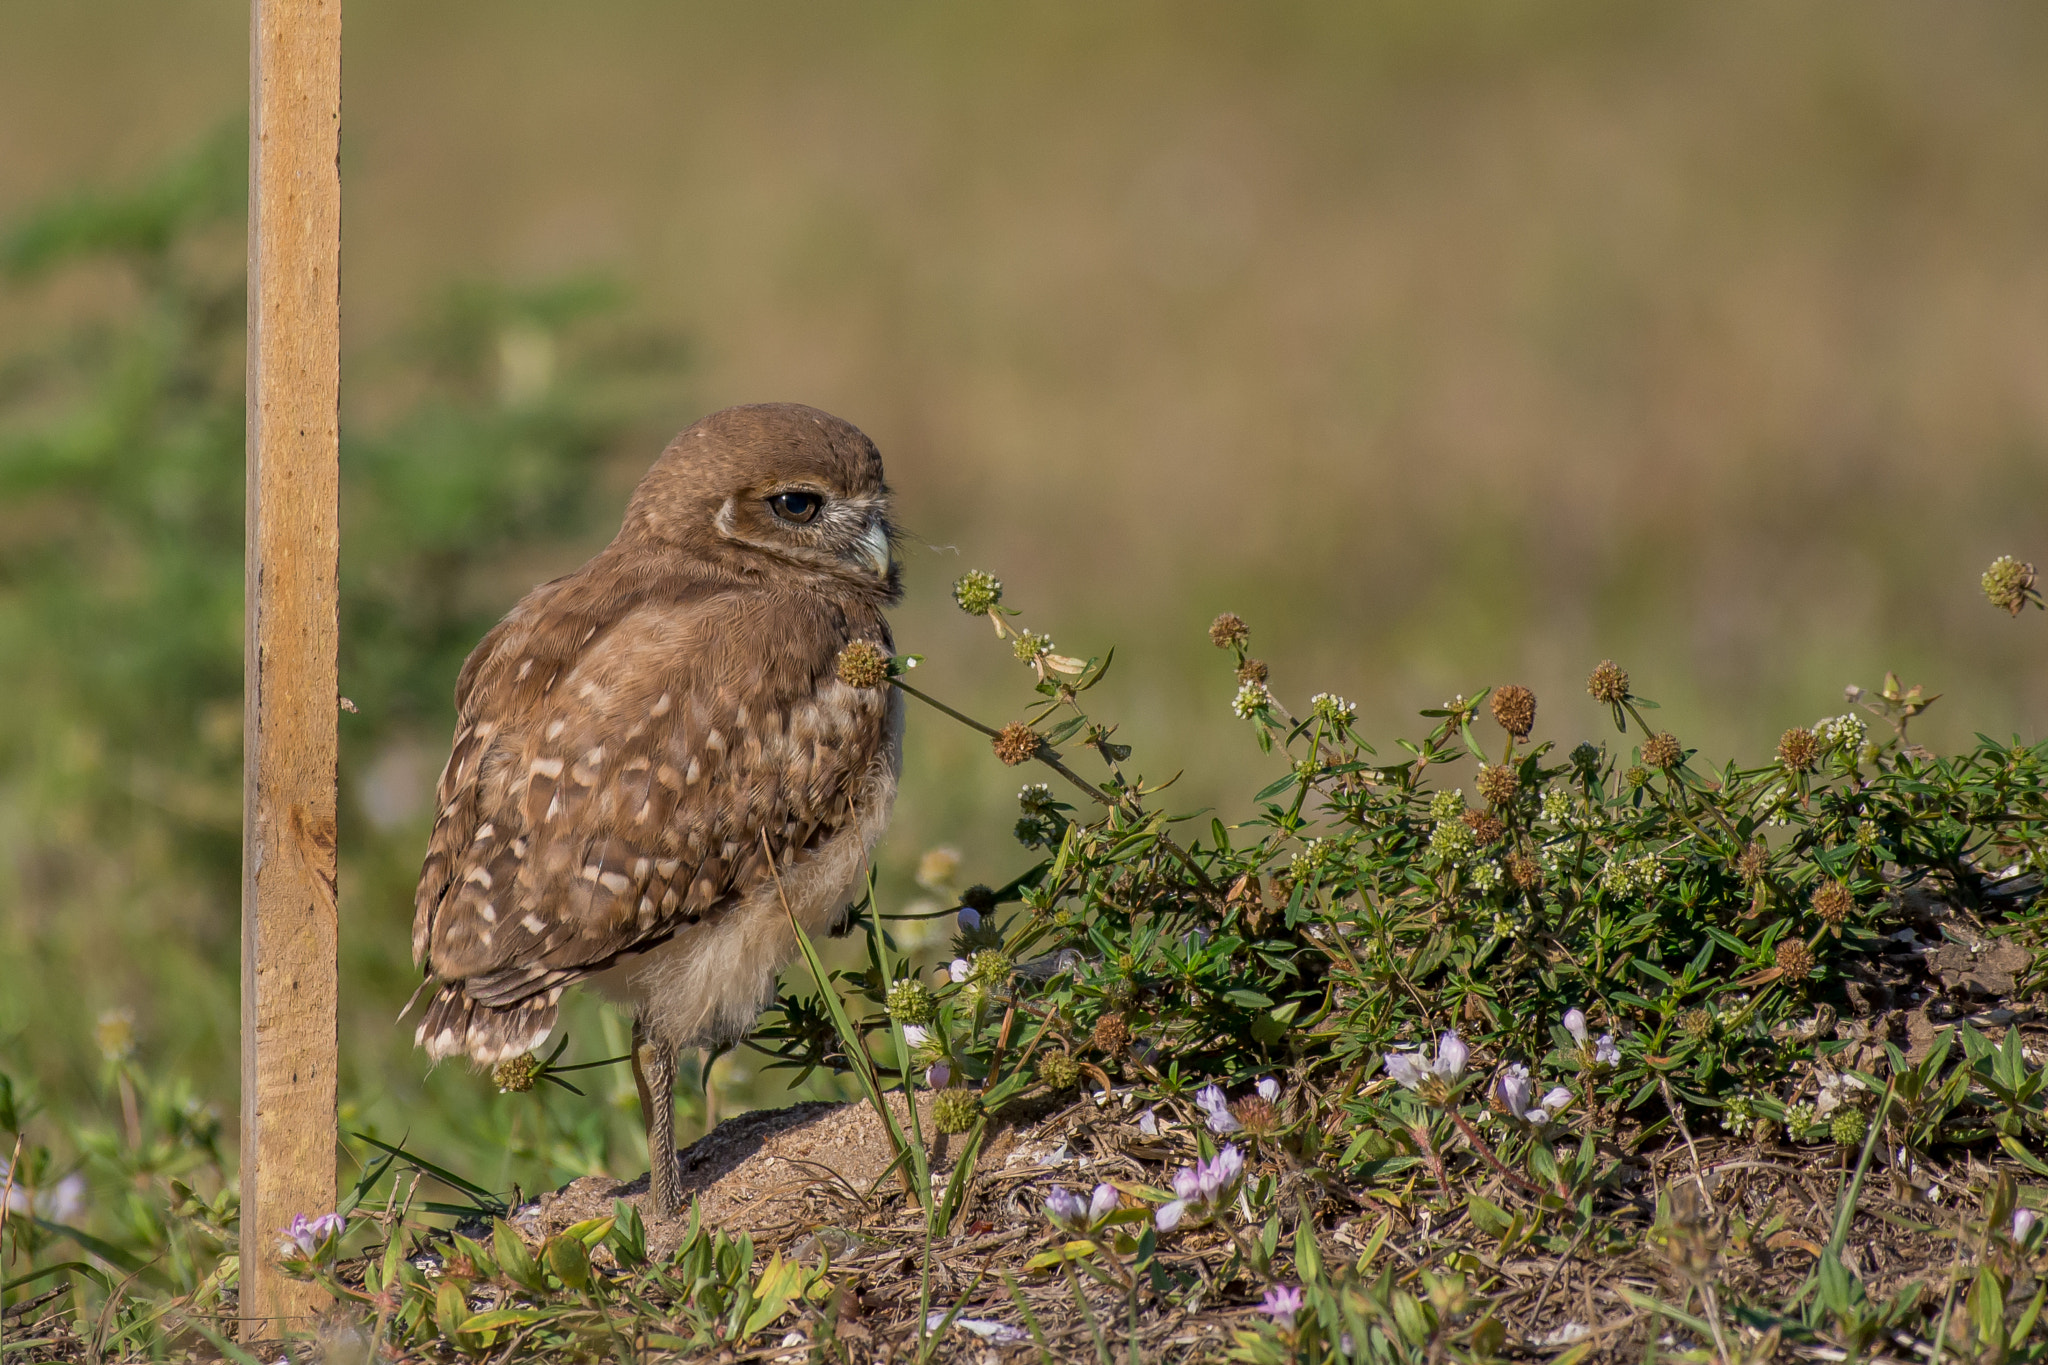
[[[0,1066],[51,1101],[129,1009],[233,1105],[246,63],[244,4],[0,0]],[[2042,70],[2007,4],[348,0],[350,1121],[643,1169],[623,1076],[496,1097],[389,1019],[463,653],[735,401],[881,444],[924,686],[1026,696],[948,600],[991,569],[1188,808],[1272,776],[1225,608],[1389,739],[1493,681],[1597,735],[1602,657],[1716,759],[1886,667],[1923,743],[2040,735],[1976,575],[2048,557]],[[1016,784],[918,714],[885,902],[1024,866]]]

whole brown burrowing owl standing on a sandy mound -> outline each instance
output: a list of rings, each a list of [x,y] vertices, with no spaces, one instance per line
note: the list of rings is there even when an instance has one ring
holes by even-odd
[[[455,684],[412,921],[434,990],[416,1040],[489,1066],[547,1040],[571,982],[629,1005],[664,1212],[676,1048],[754,1023],[797,950],[788,913],[829,927],[889,821],[901,696],[836,663],[854,641],[891,651],[897,596],[874,444],[813,407],[727,407]]]

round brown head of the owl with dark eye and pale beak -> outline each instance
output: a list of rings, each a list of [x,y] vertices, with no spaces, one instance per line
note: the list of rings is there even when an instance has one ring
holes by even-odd
[[[823,573],[897,593],[883,456],[801,403],[715,411],[670,442],[633,489],[621,538],[739,573]]]

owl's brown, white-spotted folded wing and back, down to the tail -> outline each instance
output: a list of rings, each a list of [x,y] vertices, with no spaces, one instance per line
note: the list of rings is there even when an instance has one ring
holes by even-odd
[[[680,585],[528,596],[463,667],[414,958],[432,1056],[545,1040],[561,988],[711,919],[856,819],[887,690],[840,649],[866,602]],[[766,847],[764,847],[766,845]],[[530,1042],[528,1042],[530,1040]]]

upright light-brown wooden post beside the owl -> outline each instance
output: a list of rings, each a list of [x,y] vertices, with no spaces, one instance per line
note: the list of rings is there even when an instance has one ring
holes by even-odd
[[[250,6],[242,702],[242,1336],[324,1306],[276,1269],[334,1207],[342,6]]]

